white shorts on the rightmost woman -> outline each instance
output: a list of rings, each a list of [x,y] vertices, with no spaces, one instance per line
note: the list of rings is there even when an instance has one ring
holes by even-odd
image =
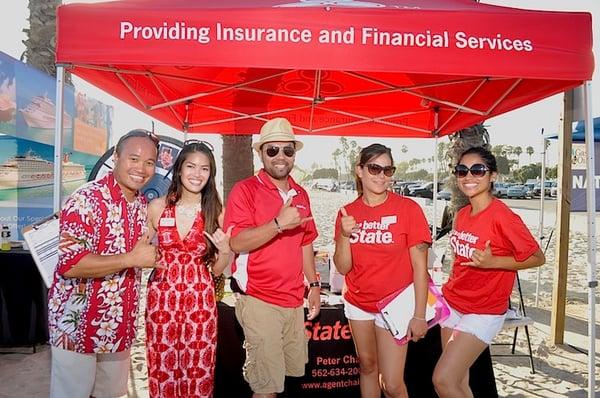
[[[440,323],[441,327],[472,334],[485,344],[492,343],[494,337],[502,329],[504,318],[506,318],[506,314],[463,314],[450,305],[448,308],[450,308],[450,316]]]

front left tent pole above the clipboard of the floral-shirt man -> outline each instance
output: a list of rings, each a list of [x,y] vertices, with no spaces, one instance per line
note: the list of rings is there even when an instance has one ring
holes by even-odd
[[[56,109],[54,122],[54,190],[52,208],[54,212],[62,205],[62,139],[63,139],[63,109],[64,109],[65,69],[56,66]]]

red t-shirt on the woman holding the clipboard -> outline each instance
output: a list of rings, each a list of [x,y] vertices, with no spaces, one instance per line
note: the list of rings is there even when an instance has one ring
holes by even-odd
[[[380,205],[367,206],[362,197],[344,206],[359,228],[350,237],[352,269],[346,274],[344,299],[368,312],[377,302],[413,281],[409,249],[431,243],[421,207],[411,199],[388,193]],[[335,221],[336,239],[341,213]]]

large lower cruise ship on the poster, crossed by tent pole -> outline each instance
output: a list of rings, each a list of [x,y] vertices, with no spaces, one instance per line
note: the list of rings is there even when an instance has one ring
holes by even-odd
[[[63,157],[63,182],[85,180],[85,167]],[[32,151],[0,164],[0,189],[33,188],[54,183],[54,164]]]

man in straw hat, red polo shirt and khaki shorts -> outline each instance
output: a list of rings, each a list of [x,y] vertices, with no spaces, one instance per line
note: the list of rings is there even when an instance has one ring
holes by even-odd
[[[269,120],[253,145],[263,169],[238,182],[227,202],[225,228],[233,226],[230,245],[238,253],[232,266],[240,293],[235,313],[246,338],[244,378],[254,397],[275,397],[285,376],[304,375],[303,275],[308,319],[320,310],[312,247],[317,230],[308,194],[290,176],[302,146],[288,120]]]

